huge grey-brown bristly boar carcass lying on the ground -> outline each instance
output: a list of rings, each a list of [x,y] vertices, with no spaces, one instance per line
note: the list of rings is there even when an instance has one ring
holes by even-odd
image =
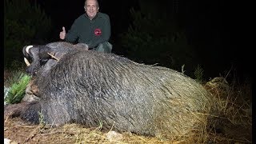
[[[55,55],[58,49],[74,48],[65,42],[50,45],[58,46],[42,49],[48,47],[47,53],[54,50]],[[164,138],[190,134],[205,124],[201,118],[210,109],[209,94],[185,74],[93,50],[73,49],[60,55],[58,60],[51,58],[50,66],[45,66],[48,60],[35,65],[39,67],[32,71],[36,72],[32,86],[37,87],[39,100],[27,102],[21,118],[38,123],[39,111],[53,126],[76,122],[90,127],[102,122],[106,130]]]

